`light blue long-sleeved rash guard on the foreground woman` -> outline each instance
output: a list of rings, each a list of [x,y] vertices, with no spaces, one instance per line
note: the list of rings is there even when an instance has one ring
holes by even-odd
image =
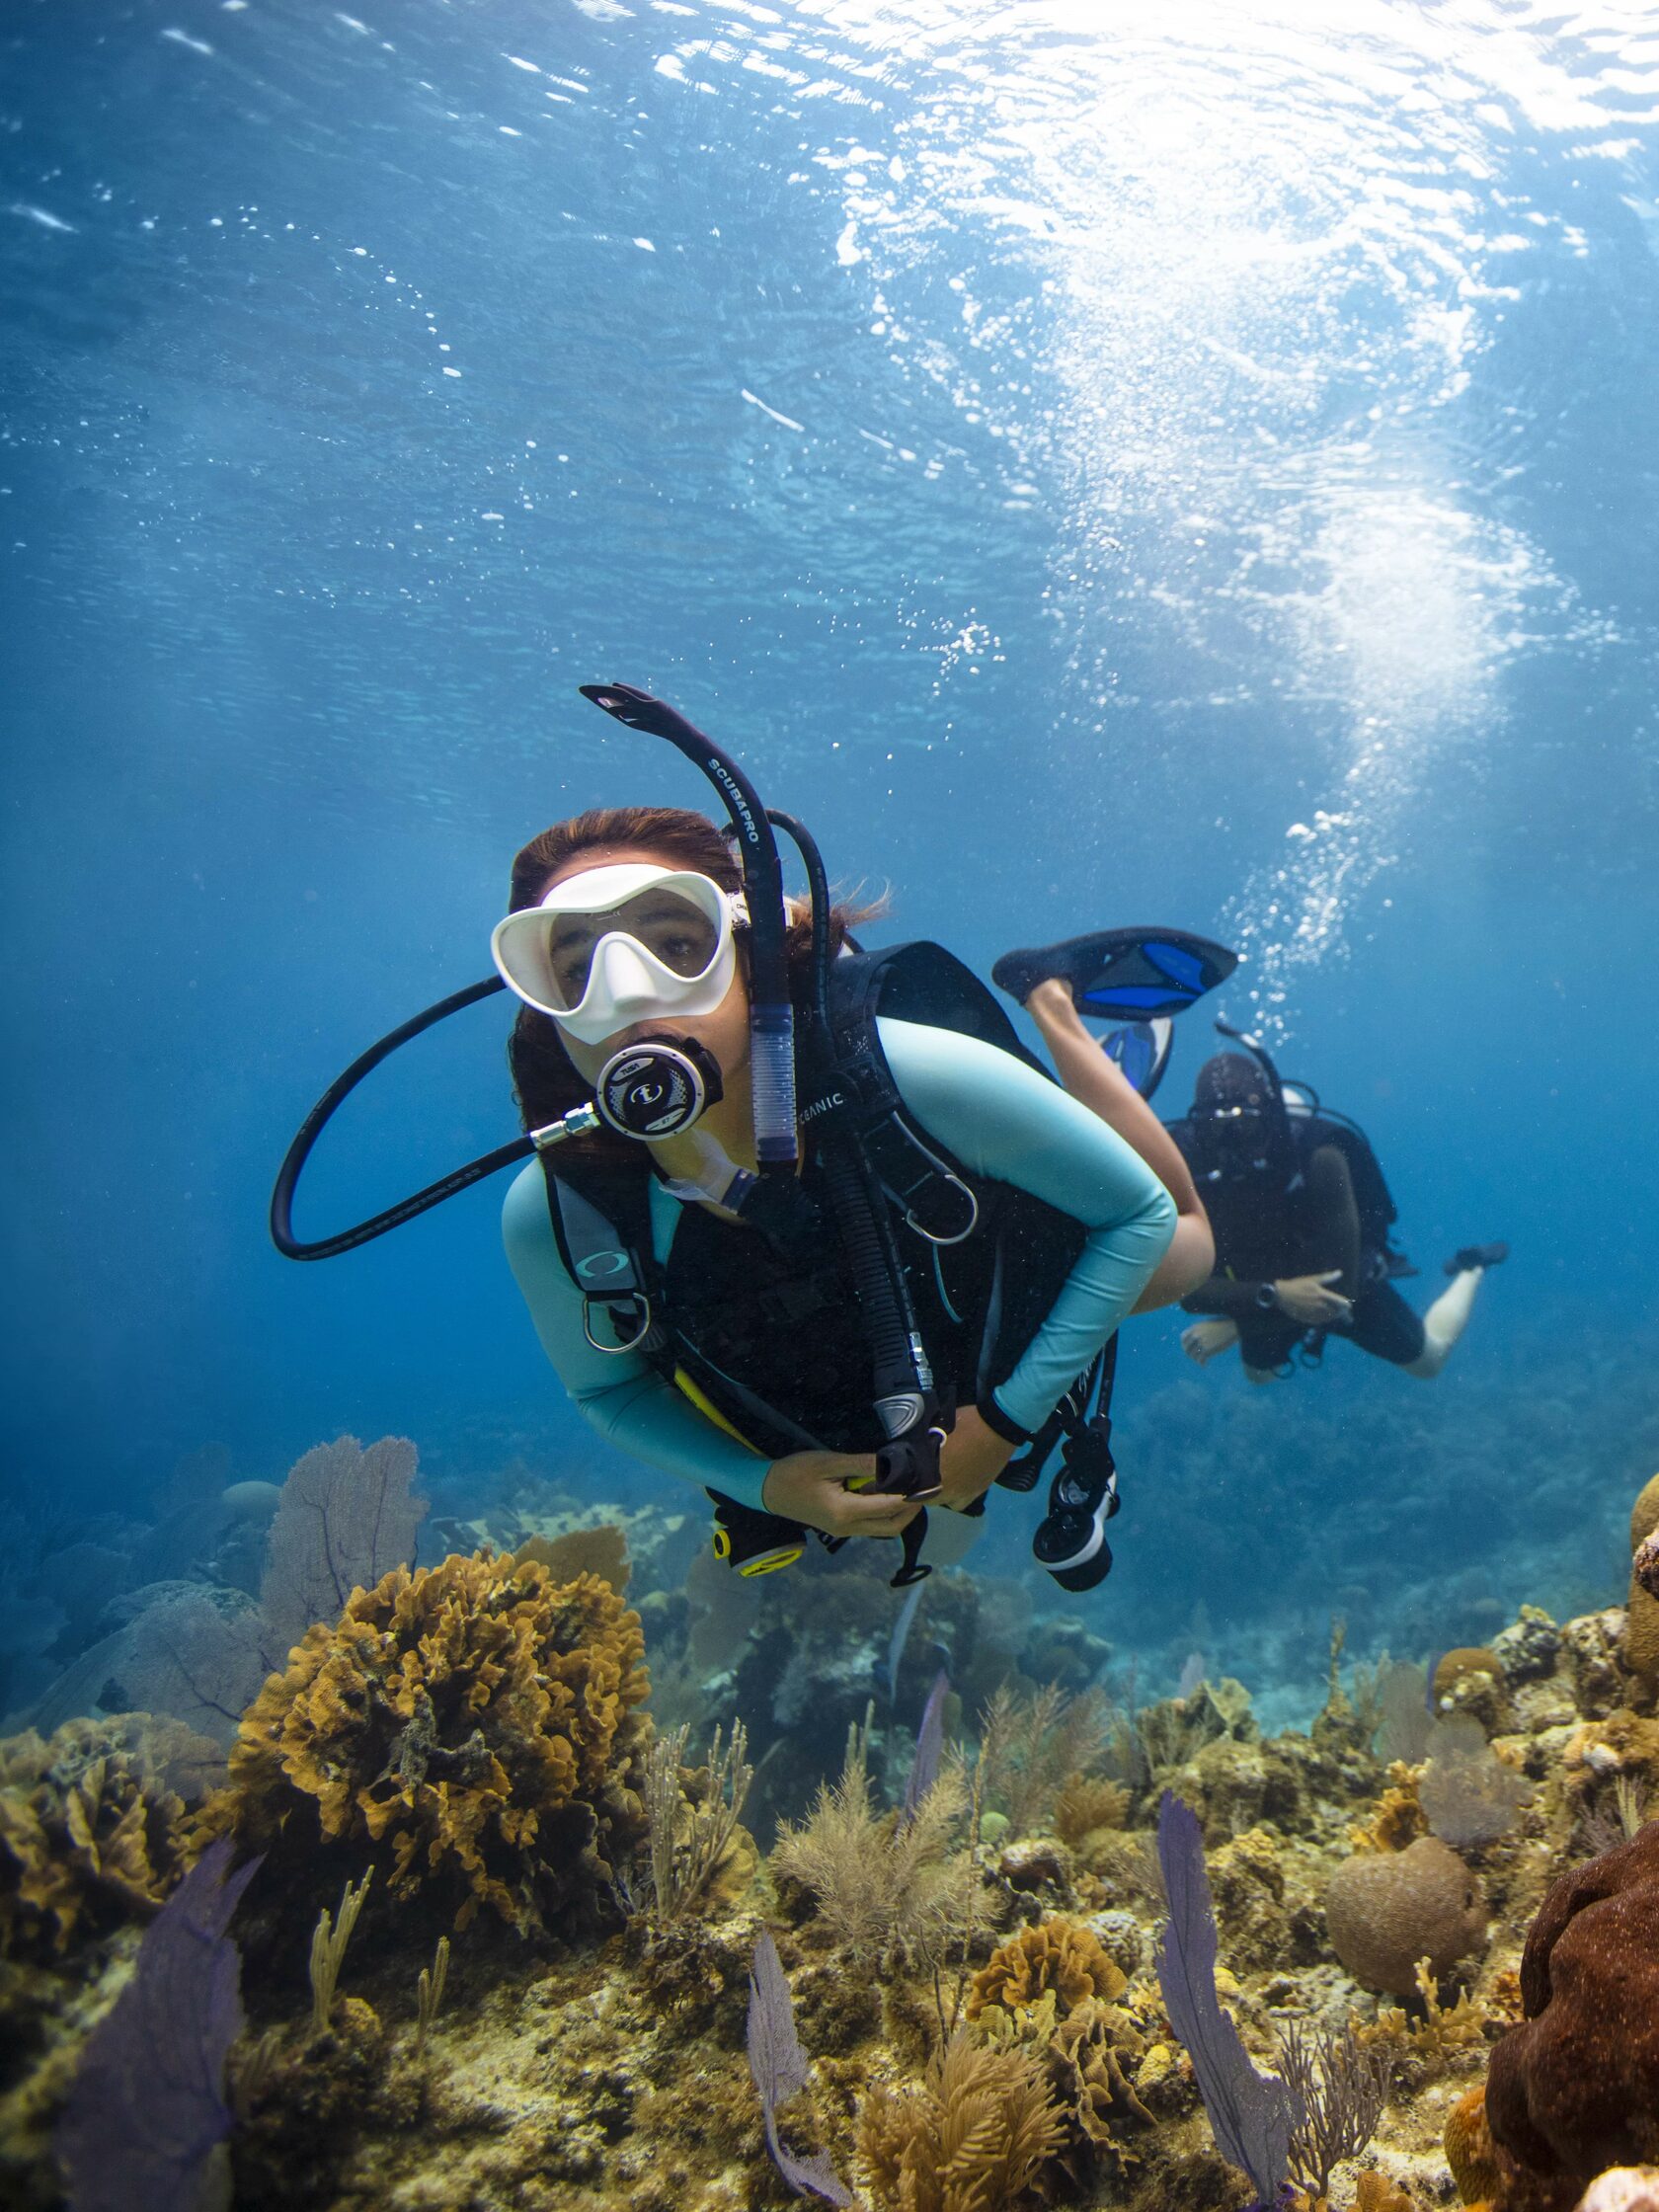
[[[971,1175],[1029,1190],[1088,1230],[1060,1296],[995,1405],[1035,1431],[1130,1312],[1175,1237],[1175,1201],[1146,1161],[1057,1084],[1013,1053],[918,1022],[876,1022],[907,1115]],[[650,1186],[657,1261],[668,1259],[681,1201]],[[723,1491],[763,1511],[772,1467],[717,1429],[635,1352],[595,1352],[582,1292],[553,1241],[546,1179],[531,1161],[502,1206],[507,1259],[542,1349],[582,1418],[608,1442],[664,1473]]]

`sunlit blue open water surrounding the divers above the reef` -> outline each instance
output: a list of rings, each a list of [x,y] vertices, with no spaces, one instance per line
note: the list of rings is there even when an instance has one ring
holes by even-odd
[[[27,1526],[341,1429],[449,1504],[520,1460],[659,1495],[544,1369],[498,1190],[323,1267],[263,1228],[327,1077],[487,971],[524,836],[703,803],[575,697],[622,677],[982,969],[1241,945],[1221,1006],[1365,1119],[1418,1303],[1515,1248],[1431,1387],[1336,1347],[1250,1396],[1137,1323],[1091,1621],[1179,1663],[1283,1615],[1290,1670],[1334,1595],[1371,1641],[1617,1597],[1659,1442],[1659,40],[1336,15],[13,0]],[[511,1133],[504,1026],[352,1104],[303,1232]]]

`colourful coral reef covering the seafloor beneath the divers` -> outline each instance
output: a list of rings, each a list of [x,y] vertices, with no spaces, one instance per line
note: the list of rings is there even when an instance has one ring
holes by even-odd
[[[219,1504],[241,1582],[157,1551],[159,1604],[263,1617],[272,1506]],[[529,1480],[489,1533],[330,1595],[195,1812],[215,1747],[170,1723],[0,1750],[7,2203],[58,2203],[88,2035],[226,1838],[268,1854],[228,1931],[250,2026],[201,2101],[237,2212],[1648,2212],[1659,2084],[1608,1997],[1659,2017],[1626,1608],[1469,1608],[1433,1683],[1347,1666],[1340,1630],[1325,1670],[1321,1624],[1325,1705],[1279,1728],[1276,1692],[1206,1679],[1197,1617],[1157,1661],[1181,1694],[1137,1703],[1077,1615],[995,1579],[898,1599],[849,1555],[743,1586],[690,1515],[595,1526]],[[77,1615],[117,1659],[126,1595]],[[84,1659],[88,1694],[122,1683]],[[1164,1790],[1190,1812],[1159,1865]],[[761,1858],[743,1823],[774,1816]]]

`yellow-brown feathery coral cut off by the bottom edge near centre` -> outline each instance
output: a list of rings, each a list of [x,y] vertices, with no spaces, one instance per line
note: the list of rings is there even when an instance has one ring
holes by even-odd
[[[858,2115],[869,2194],[883,2212],[1006,2212],[1062,2141],[1042,2062],[964,2035],[909,2090],[874,2088]]]

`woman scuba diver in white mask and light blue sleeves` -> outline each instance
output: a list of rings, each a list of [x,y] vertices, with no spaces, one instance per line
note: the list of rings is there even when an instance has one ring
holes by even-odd
[[[967,1548],[945,1528],[971,1540],[993,1482],[1033,1489],[1057,1447],[1033,1553],[1093,1588],[1117,1509],[1117,1325],[1214,1265],[1192,1177],[1113,1060],[1234,956],[1119,929],[998,962],[1062,1088],[942,947],[858,947],[810,832],[684,714],[626,684],[582,690],[690,759],[730,827],[619,807],[533,838],[495,973],[372,1044],[305,1117],[272,1192],[276,1248],[352,1252],[531,1161],[504,1239],[549,1358],[604,1438],[712,1495],[741,1573],[790,1564],[812,1528],[900,1537],[894,1584],[914,1582]],[[805,902],[783,896],[774,830]],[[341,1104],[502,989],[522,1000],[524,1135],[301,1239],[299,1179]],[[1102,1053],[1077,1009],[1135,1026]]]

